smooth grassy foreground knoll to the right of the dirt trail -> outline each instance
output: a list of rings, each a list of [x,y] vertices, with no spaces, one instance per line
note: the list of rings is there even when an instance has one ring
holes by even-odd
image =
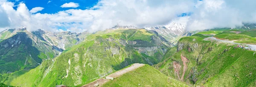
[[[183,82],[165,76],[154,67],[145,65],[108,81],[102,87],[189,87]]]

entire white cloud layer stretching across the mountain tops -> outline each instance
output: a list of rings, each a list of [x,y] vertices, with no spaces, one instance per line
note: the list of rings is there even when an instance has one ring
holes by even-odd
[[[95,32],[117,24],[144,27],[166,25],[173,20],[184,22],[187,30],[193,31],[256,22],[253,0],[100,0],[91,8],[74,9],[78,4],[65,5],[73,8],[55,14],[41,14],[44,7],[29,11],[25,3],[20,3],[14,9],[14,2],[0,0],[0,31],[26,26],[29,31],[65,28]],[[187,17],[177,16],[188,12],[191,15]]]

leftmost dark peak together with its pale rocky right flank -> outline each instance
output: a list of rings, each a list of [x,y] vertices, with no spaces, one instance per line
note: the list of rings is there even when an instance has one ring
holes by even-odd
[[[58,51],[28,32],[18,32],[0,42],[0,73],[35,68],[44,59],[52,59]]]

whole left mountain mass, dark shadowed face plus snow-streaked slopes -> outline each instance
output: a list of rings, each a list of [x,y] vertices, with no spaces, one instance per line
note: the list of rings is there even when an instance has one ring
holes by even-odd
[[[25,27],[2,31],[0,32],[0,73],[35,68],[42,61],[53,59],[65,48],[70,49],[71,46],[79,43],[78,36],[84,34],[71,32],[54,34],[41,29],[29,32]]]

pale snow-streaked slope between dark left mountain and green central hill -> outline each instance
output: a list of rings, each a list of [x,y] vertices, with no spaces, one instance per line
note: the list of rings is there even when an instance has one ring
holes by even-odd
[[[76,33],[70,31],[61,31],[61,32],[49,32],[39,29],[38,31],[32,31],[32,34],[39,37],[41,40],[47,42],[47,44],[59,48],[61,52],[63,50],[70,50],[73,45],[77,45],[83,41],[86,36],[90,33]]]

